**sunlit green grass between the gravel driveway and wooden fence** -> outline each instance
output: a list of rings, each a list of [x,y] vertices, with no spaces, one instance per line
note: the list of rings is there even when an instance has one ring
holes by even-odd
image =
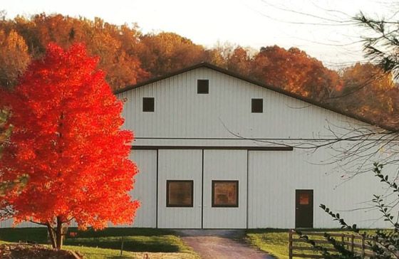
[[[288,259],[288,231],[288,229],[276,228],[249,229],[246,233],[245,240],[250,245],[259,248],[260,250],[264,250],[276,258]],[[340,229],[314,229],[312,231],[322,233],[349,233]],[[375,232],[375,230],[368,230],[366,232],[372,233]],[[301,245],[306,246],[306,244]]]

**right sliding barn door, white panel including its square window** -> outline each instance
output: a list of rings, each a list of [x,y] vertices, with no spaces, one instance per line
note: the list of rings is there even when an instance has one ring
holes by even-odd
[[[203,228],[247,228],[247,150],[204,150]]]

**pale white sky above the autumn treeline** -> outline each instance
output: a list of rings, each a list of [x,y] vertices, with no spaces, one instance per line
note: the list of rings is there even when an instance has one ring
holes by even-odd
[[[297,47],[339,69],[364,62],[361,37],[370,35],[353,21],[362,11],[373,18],[399,18],[399,1],[389,0],[0,0],[7,18],[63,14],[114,24],[137,24],[142,33],[168,31],[207,48],[229,43]]]

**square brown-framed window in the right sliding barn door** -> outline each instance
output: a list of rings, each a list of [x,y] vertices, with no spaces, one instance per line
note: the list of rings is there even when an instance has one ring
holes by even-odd
[[[238,181],[212,181],[212,207],[238,207]]]

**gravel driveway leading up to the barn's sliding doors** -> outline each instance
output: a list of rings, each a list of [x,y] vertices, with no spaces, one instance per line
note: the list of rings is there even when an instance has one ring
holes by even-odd
[[[247,245],[242,230],[176,230],[182,240],[203,259],[271,259],[271,255]]]

